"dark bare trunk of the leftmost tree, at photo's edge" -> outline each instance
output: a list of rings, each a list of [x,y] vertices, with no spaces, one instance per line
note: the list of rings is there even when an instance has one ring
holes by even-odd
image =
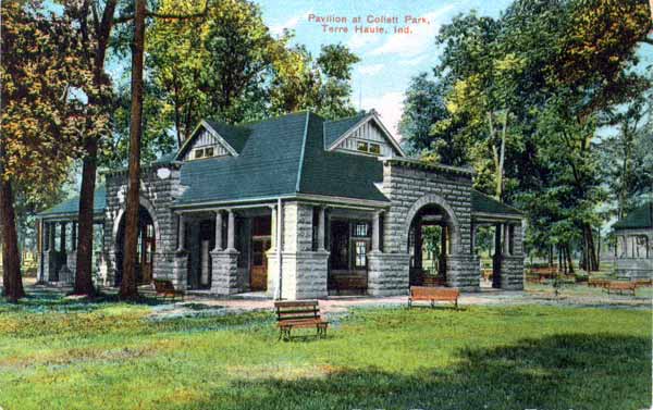
[[[1,166],[1,165],[0,165]],[[25,297],[21,276],[21,254],[16,235],[11,181],[5,181],[0,169],[0,224],[2,225],[2,279],[4,297],[15,302]]]

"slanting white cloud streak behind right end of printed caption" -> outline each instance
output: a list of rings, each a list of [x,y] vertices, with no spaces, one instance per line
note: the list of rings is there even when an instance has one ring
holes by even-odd
[[[454,4],[447,4],[422,15],[429,24],[411,25],[411,34],[393,34],[387,41],[370,51],[370,55],[399,54],[414,57],[424,52],[433,45],[435,35],[442,24],[442,17],[454,10]]]

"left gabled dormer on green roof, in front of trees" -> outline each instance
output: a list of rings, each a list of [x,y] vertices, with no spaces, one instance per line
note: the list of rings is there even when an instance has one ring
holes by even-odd
[[[213,157],[238,157],[247,140],[245,129],[202,120],[177,152],[176,160],[194,161]]]

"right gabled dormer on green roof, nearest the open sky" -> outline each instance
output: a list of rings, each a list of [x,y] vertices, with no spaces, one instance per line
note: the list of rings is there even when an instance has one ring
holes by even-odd
[[[406,157],[374,110],[324,122],[324,149],[371,157]]]

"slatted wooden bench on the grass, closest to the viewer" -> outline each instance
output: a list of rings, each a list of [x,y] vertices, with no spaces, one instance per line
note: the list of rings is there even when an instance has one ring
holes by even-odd
[[[326,336],[329,322],[321,318],[317,300],[276,301],[274,309],[280,340],[289,340],[294,328],[315,327],[318,337]]]

